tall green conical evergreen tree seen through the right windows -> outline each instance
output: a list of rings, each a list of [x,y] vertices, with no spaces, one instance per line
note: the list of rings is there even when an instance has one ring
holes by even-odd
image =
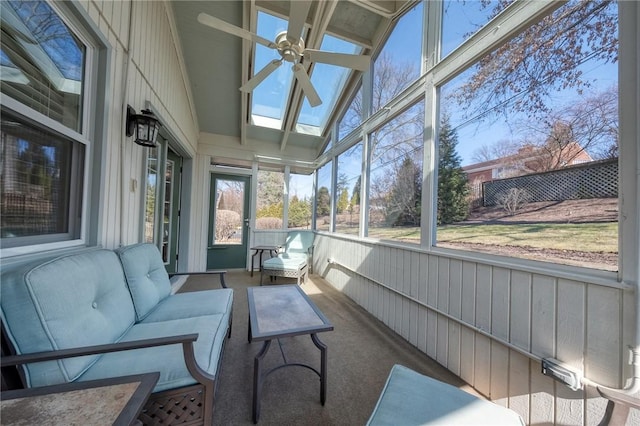
[[[458,135],[445,115],[438,145],[438,225],[459,222],[469,214],[469,186],[460,166],[462,160],[456,151],[457,145]]]

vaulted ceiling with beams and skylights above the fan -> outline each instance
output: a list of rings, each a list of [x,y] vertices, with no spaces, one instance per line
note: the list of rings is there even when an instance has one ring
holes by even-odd
[[[292,8],[294,2],[296,4]],[[330,50],[325,47],[323,40],[331,39],[334,45],[348,42],[345,44],[356,50],[353,53],[375,55],[391,30],[394,18],[414,1],[321,0],[307,2],[305,7],[300,7],[302,0],[175,0],[172,3],[196,107],[201,143],[219,146],[220,162],[224,163],[243,164],[263,157],[310,164],[322,153],[330,131],[327,124],[335,119],[340,106],[357,89],[362,71],[318,64],[311,62],[306,55],[298,58],[294,63],[298,62],[304,67],[324,107],[311,107],[309,101],[305,100],[305,94],[308,93],[303,90],[304,82],[291,77],[287,80],[289,86],[279,90],[274,88],[268,94],[281,98],[276,99],[281,105],[281,119],[263,120],[258,113],[257,89],[245,93],[239,88],[262,69],[263,64],[257,62],[264,53],[258,49],[265,48],[248,40],[249,37],[241,38],[205,25],[202,19],[198,20],[198,16],[204,13],[234,27],[260,33],[267,26],[261,20],[265,22],[270,19],[287,25],[289,21],[294,22],[295,13],[302,10],[306,12],[306,17],[301,38],[306,49]],[[294,18],[289,20],[291,11]],[[264,38],[275,41],[275,34],[265,34]],[[276,50],[274,52],[278,53]],[[284,62],[284,65],[291,64]],[[285,66],[280,68],[291,73]],[[339,75],[334,77],[338,80],[335,84],[322,82],[322,79],[331,75]],[[268,88],[269,84],[273,86],[270,80],[264,80],[258,87],[264,85]],[[337,89],[334,90],[334,87]],[[256,99],[253,99],[254,96]],[[322,111],[323,115],[322,119],[318,119],[320,124],[306,126],[301,117],[317,111]],[[265,125],[265,122],[268,124]]]

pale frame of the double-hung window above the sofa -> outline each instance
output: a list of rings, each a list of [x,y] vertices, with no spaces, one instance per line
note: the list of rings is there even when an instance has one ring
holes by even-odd
[[[24,237],[24,244],[12,247],[0,248],[0,259],[15,258],[53,251],[96,245],[99,242],[97,227],[102,218],[98,205],[98,198],[102,194],[100,181],[102,180],[103,165],[101,141],[105,140],[107,133],[108,108],[106,98],[102,94],[106,91],[107,74],[110,64],[111,49],[104,35],[97,26],[91,22],[87,12],[81,5],[73,3],[58,3],[45,1],[56,13],[62,22],[68,27],[78,40],[84,44],[86,51],[84,57],[84,72],[82,81],[82,110],[81,131],[77,132],[64,124],[39,113],[16,99],[2,94],[2,109],[19,116],[27,122],[31,122],[35,128],[58,134],[64,139],[69,139],[74,145],[84,146],[84,156],[79,158],[78,149],[72,146],[72,174],[69,186],[69,197],[75,199],[75,206],[70,205],[70,212],[79,209],[79,217],[69,217],[69,228],[75,221],[77,232],[71,238],[56,238],[53,235],[39,235]],[[100,121],[102,119],[103,121]],[[92,165],[88,167],[88,165]],[[83,170],[82,176],[78,176],[79,170]],[[80,182],[74,185],[73,179]],[[78,195],[76,191],[80,190]],[[76,197],[77,195],[77,197]],[[54,234],[56,236],[69,235]]]

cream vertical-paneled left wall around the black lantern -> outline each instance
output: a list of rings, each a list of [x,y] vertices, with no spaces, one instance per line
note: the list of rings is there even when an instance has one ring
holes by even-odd
[[[105,199],[100,243],[107,248],[139,241],[146,148],[124,132],[125,108],[148,105],[182,150],[194,154],[198,141],[193,102],[173,12],[162,1],[83,1],[111,47]],[[131,22],[130,22],[131,21]],[[130,25],[131,24],[131,25]]]

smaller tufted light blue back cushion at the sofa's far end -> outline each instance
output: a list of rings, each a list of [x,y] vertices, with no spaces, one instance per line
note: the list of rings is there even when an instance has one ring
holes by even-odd
[[[137,321],[142,321],[165,297],[171,282],[160,251],[153,244],[133,244],[116,250],[131,291]]]

